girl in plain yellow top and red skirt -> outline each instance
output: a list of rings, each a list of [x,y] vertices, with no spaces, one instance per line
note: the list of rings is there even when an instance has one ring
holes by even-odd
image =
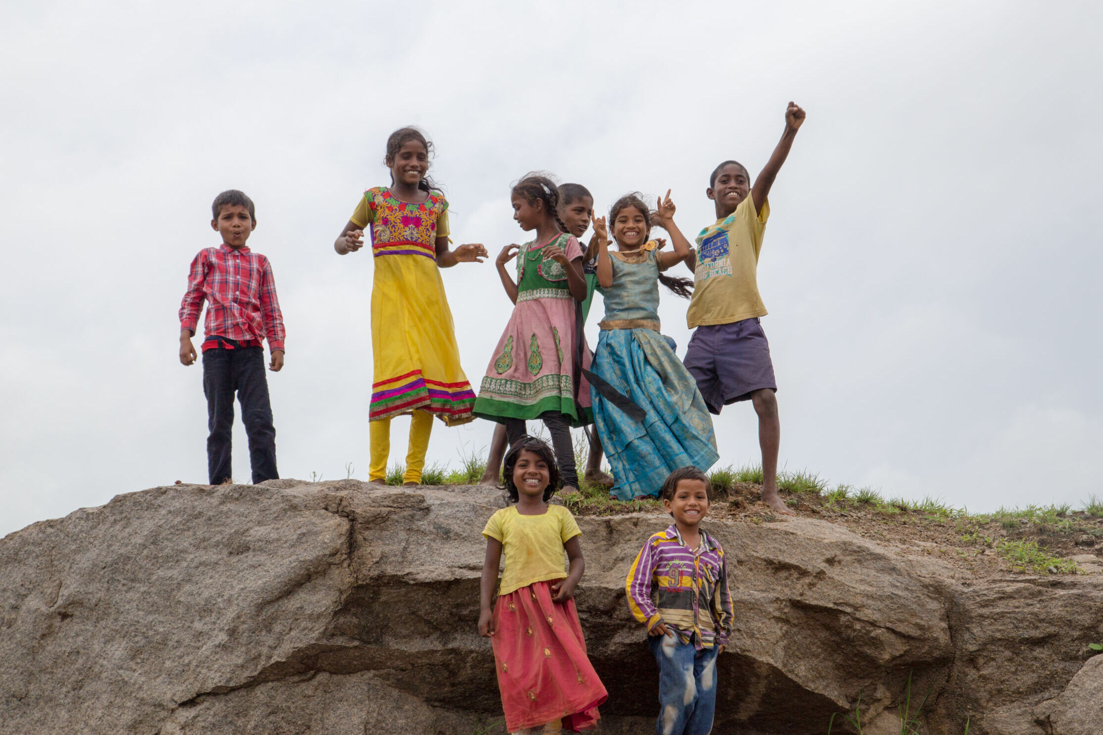
[[[578,541],[582,532],[570,511],[548,504],[559,488],[559,468],[547,444],[531,436],[517,439],[505,456],[503,477],[515,504],[496,511],[483,529],[479,633],[492,639],[506,729],[588,729],[597,725],[598,705],[609,694],[586,656],[575,609],[575,587],[586,566]]]

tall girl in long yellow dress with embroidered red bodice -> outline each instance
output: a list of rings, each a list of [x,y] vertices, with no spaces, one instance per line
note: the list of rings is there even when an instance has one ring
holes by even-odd
[[[372,233],[372,458],[368,481],[384,481],[390,419],[413,414],[405,484],[418,484],[429,448],[432,416],[448,426],[472,419],[474,393],[460,368],[452,312],[438,268],[482,263],[486,248],[448,248],[448,201],[426,175],[432,143],[417,128],[387,139],[390,185],[364,192],[333,243],[341,255],[364,246]]]

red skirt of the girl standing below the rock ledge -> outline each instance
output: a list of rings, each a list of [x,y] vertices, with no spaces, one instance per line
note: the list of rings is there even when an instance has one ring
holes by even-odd
[[[586,656],[575,600],[553,603],[553,584],[534,582],[494,605],[494,664],[511,733],[560,718],[568,732],[595,727],[609,696]]]

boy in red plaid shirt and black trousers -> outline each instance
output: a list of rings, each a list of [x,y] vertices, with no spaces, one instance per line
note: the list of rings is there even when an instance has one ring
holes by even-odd
[[[192,260],[188,292],[180,303],[180,362],[195,362],[192,335],[206,299],[202,350],[211,484],[231,479],[235,392],[249,437],[253,482],[275,480],[279,477],[276,427],[260,342],[268,340],[268,369],[279,372],[283,366],[283,316],[276,298],[276,281],[268,258],[245,246],[257,226],[253,200],[232,189],[218,194],[211,209],[211,226],[222,235],[222,245],[200,251]]]

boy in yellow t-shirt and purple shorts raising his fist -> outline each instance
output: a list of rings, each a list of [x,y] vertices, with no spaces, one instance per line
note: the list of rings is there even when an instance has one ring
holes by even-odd
[[[686,320],[697,330],[686,349],[686,369],[714,414],[737,401],[750,400],[754,405],[762,448],[762,500],[786,515],[793,512],[778,497],[778,385],[770,344],[759,323],[767,311],[756,273],[770,216],[767,196],[802,122],[804,110],[789,103],[785,132],[753,187],[741,163],[725,161],[716,167],[705,191],[716,204],[716,222],[700,231],[696,251],[686,258],[695,280]]]

